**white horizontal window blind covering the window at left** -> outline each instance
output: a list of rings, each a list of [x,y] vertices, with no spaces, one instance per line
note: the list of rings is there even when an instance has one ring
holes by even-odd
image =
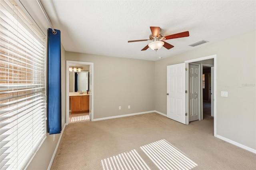
[[[0,169],[22,169],[46,137],[45,37],[0,0]]]

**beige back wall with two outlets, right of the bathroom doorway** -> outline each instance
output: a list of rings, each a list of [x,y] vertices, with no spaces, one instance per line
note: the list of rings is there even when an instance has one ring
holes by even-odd
[[[94,63],[94,119],[154,111],[154,61],[74,52],[66,60]]]

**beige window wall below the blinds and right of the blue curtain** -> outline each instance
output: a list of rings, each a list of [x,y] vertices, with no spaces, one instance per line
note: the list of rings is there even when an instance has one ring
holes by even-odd
[[[61,126],[62,129],[66,123],[66,62],[65,62],[65,49],[61,45]],[[47,126],[47,125],[46,125]],[[27,167],[27,170],[46,170],[54,154],[60,134],[46,134],[42,146],[36,152],[34,158]]]

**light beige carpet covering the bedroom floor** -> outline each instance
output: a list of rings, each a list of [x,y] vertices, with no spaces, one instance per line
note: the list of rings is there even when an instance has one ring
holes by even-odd
[[[69,124],[51,169],[256,169],[256,154],[214,137],[213,128],[212,117],[183,125],[157,113]]]

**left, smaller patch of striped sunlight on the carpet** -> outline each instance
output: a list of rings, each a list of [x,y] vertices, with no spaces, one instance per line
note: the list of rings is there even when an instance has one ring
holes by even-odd
[[[150,170],[135,149],[101,160],[101,163],[103,170]]]

